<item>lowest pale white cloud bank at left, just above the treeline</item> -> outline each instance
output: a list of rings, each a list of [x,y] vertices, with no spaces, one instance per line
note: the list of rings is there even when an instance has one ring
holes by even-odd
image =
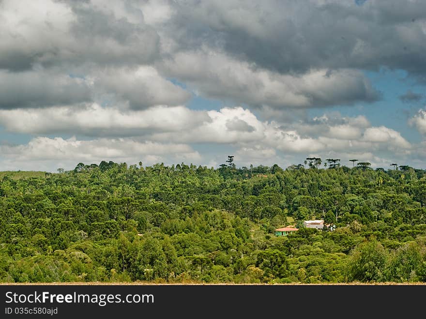
[[[99,163],[113,160],[135,164],[143,160],[146,164],[159,161],[199,161],[200,154],[189,145],[155,143],[130,138],[78,140],[75,137],[36,137],[28,144],[0,145],[0,154],[5,167],[29,168],[32,162],[45,166],[62,165],[74,168],[78,162]],[[51,168],[50,168],[51,169]]]

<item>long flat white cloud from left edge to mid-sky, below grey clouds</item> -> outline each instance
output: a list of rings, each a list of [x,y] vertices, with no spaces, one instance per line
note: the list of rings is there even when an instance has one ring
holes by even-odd
[[[6,130],[27,134],[74,134],[126,137],[194,128],[211,118],[205,111],[184,106],[155,106],[123,111],[98,104],[80,107],[51,107],[0,110],[0,124]]]

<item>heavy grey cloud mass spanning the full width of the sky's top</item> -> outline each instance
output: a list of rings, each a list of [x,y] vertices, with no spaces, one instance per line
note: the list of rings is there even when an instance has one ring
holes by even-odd
[[[403,69],[426,80],[426,2],[361,2],[3,1],[0,69],[95,79],[55,92],[42,79],[1,105],[102,103],[110,94],[134,110],[176,106],[191,95],[166,80],[174,78],[196,94],[257,110],[329,107],[381,99],[364,70]],[[160,73],[154,80],[120,73],[140,66]],[[119,71],[97,77],[105,70]]]

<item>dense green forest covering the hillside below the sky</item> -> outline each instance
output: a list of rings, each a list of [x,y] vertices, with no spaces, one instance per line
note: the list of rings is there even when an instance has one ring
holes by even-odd
[[[425,282],[426,171],[307,160],[2,172],[0,281]]]

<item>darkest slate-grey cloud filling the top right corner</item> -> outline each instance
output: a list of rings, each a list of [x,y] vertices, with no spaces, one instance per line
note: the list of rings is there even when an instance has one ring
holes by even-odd
[[[280,73],[312,68],[426,73],[426,2],[184,1],[175,26],[179,43],[225,49]]]

